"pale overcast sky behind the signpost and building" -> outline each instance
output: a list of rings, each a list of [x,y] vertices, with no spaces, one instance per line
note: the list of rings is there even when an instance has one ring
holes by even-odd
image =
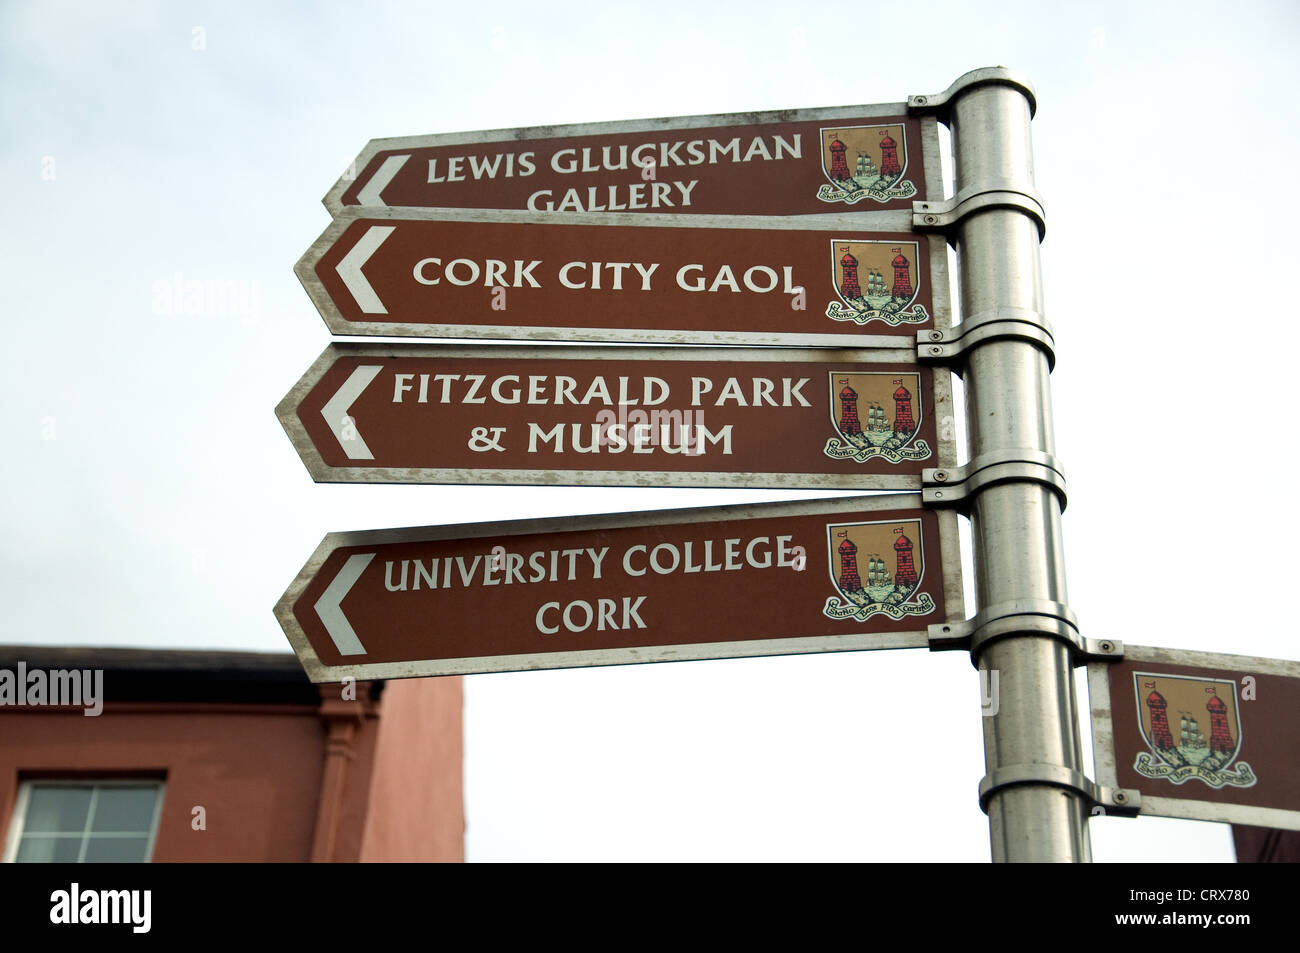
[[[1092,637],[1300,658],[1297,10],[6,0],[0,640],[283,651],[272,606],[329,530],[832,495],[315,485],[273,407],[329,342],[292,273],[320,198],[370,138],[893,103],[1006,65],[1039,94],[1071,606]],[[185,281],[248,295],[159,294]],[[957,653],[473,676],[465,731],[473,861],[989,857]],[[1232,859],[1221,824],[1092,836]]]

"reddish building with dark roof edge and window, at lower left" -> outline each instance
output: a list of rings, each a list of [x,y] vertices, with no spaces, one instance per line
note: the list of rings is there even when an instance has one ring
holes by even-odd
[[[460,679],[312,685],[290,654],[0,646],[103,712],[0,706],[5,861],[463,861]]]

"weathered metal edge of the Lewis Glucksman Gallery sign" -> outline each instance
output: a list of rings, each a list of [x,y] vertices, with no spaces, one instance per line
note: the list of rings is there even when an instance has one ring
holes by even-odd
[[[649,120],[618,120],[612,122],[576,122],[556,126],[520,126],[516,129],[488,129],[462,133],[434,133],[426,135],[390,137],[370,139],[339,176],[321,204],[333,216],[344,208],[346,192],[359,174],[380,152],[391,150],[438,148],[442,146],[471,146],[485,143],[525,143],[537,139],[562,139],[588,135],[620,135],[624,133],[667,133],[679,129],[707,129],[710,126],[757,126],[777,122],[814,122],[822,120],[874,118],[878,116],[906,116],[920,124],[920,150],[926,194],[933,200],[944,194],[942,165],[939,150],[939,122],[932,116],[909,112],[906,103],[878,103],[872,105],[822,107],[815,109],[770,109],[749,113],[714,113],[706,116],[671,116]],[[356,205],[355,208],[390,208],[389,205]],[[672,213],[662,213],[672,216]],[[651,216],[654,217],[654,216]]]

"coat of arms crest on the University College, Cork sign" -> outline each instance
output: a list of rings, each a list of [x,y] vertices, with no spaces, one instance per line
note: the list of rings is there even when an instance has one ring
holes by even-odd
[[[831,524],[826,536],[827,567],[840,595],[826,601],[823,615],[864,621],[874,615],[902,619],[935,611],[933,598],[920,588],[926,576],[920,520]]]

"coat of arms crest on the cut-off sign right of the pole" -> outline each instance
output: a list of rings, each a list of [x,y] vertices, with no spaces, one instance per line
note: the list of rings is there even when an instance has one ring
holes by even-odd
[[[1134,770],[1145,777],[1183,784],[1192,777],[1212,788],[1254,785],[1254,771],[1242,750],[1242,712],[1236,685],[1223,679],[1134,672],[1138,727],[1149,750]],[[1205,725],[1209,725],[1206,731]]]

